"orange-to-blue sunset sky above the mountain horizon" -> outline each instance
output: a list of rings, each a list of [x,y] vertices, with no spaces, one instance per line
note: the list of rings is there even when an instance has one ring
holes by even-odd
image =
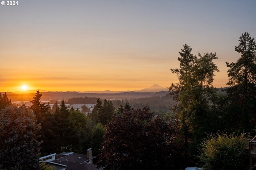
[[[0,5],[0,91],[169,87],[185,43],[216,52],[224,87],[243,32],[256,0],[20,0]]]

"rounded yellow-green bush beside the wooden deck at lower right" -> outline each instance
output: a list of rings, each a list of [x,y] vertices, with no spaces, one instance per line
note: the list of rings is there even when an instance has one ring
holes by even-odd
[[[200,155],[205,170],[243,170],[248,164],[244,134],[208,134],[201,142]],[[248,168],[247,168],[248,169]]]

